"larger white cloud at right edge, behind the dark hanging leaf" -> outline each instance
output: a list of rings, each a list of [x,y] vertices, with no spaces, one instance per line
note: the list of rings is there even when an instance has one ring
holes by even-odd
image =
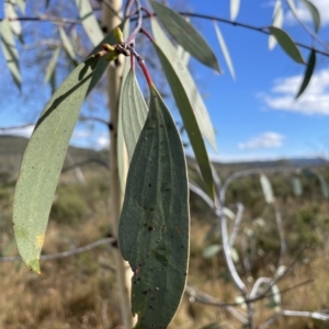
[[[329,69],[314,73],[305,92],[295,100],[302,80],[302,75],[276,79],[271,92],[260,98],[273,110],[329,115]]]

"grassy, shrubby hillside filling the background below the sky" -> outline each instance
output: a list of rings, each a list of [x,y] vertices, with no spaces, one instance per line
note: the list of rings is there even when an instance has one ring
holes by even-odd
[[[15,256],[11,226],[12,196],[15,177],[26,139],[0,136],[0,253]],[[106,152],[69,148],[73,162],[95,159],[106,162]],[[190,164],[193,160],[189,160]],[[250,168],[294,166],[294,161],[246,163],[215,163],[222,180],[230,173]],[[329,178],[329,170],[316,160],[303,162],[315,173]],[[300,163],[299,163],[300,164]],[[321,164],[321,166],[319,166]],[[69,168],[67,159],[65,168]],[[86,182],[75,170],[64,170],[54,200],[43,253],[75,249],[111,234],[109,217],[109,169],[98,162],[80,167]],[[197,174],[191,170],[197,182]],[[328,308],[328,249],[329,206],[317,175],[309,171],[299,174],[303,194],[294,195],[292,174],[269,174],[276,207],[281,213],[287,251],[283,264],[288,266],[300,250],[306,251],[296,261],[292,273],[277,285],[290,290],[281,296],[281,305],[273,298],[256,304],[257,324],[263,322],[282,309],[318,310]],[[236,212],[237,203],[245,213],[235,247],[236,266],[251,288],[257,277],[271,277],[277,268],[280,239],[275,207],[265,203],[259,175],[235,181],[227,193],[227,206]],[[277,211],[276,209],[276,211]],[[234,220],[229,219],[229,231]],[[218,219],[208,206],[191,193],[191,260],[189,285],[207,293],[218,302],[232,303],[238,297],[222,252],[209,256],[206,250],[220,246]],[[20,262],[0,262],[0,328],[8,329],[69,329],[116,328],[120,324],[112,246],[102,246],[79,256],[42,262],[42,275],[31,273]],[[313,281],[307,281],[311,279]],[[307,281],[294,287],[296,284]],[[242,307],[236,310],[245,315]],[[229,322],[241,328],[239,321],[225,308],[193,302],[184,296],[171,329],[201,329],[211,322],[225,327]],[[215,328],[215,327],[214,327]],[[228,327],[230,328],[230,327]],[[328,322],[309,318],[281,318],[269,328],[328,328]],[[122,329],[122,328],[121,328]]]

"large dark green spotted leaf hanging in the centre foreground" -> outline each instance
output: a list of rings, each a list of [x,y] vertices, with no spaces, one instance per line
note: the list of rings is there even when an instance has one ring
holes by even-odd
[[[134,271],[136,329],[167,328],[174,316],[186,281],[189,225],[184,149],[169,110],[150,86],[118,226],[121,252]]]

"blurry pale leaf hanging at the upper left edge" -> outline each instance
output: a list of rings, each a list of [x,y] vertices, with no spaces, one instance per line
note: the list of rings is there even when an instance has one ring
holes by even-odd
[[[10,22],[7,19],[1,23],[1,45],[8,68],[18,88],[21,89],[22,78],[19,65],[19,52],[15,46]]]

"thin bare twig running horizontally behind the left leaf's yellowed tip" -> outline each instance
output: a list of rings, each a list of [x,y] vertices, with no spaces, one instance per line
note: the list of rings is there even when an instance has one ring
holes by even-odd
[[[89,250],[94,249],[97,247],[100,247],[102,245],[111,246],[111,243],[113,243],[115,241],[116,241],[115,238],[105,238],[105,239],[94,241],[94,242],[92,242],[90,245],[87,245],[84,247],[76,248],[76,249],[72,249],[72,250],[68,250],[68,251],[64,251],[64,252],[57,252],[57,253],[50,253],[50,254],[42,254],[39,257],[39,259],[41,260],[53,260],[53,259],[71,257],[71,256],[76,256],[76,254],[89,251]],[[22,259],[21,259],[20,256],[1,257],[0,258],[0,262],[15,262],[15,261],[21,261],[21,260]]]

